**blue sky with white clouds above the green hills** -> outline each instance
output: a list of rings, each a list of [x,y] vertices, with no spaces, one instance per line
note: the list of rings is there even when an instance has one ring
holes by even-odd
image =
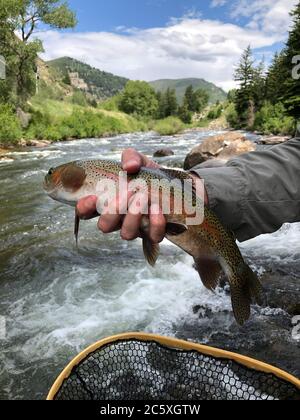
[[[69,0],[78,26],[43,32],[45,54],[139,80],[202,77],[229,90],[242,51],[270,62],[297,0]]]

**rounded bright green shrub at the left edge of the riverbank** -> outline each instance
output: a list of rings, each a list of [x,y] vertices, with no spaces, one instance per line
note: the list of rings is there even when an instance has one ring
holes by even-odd
[[[22,137],[20,121],[9,105],[0,105],[0,142],[17,143]]]

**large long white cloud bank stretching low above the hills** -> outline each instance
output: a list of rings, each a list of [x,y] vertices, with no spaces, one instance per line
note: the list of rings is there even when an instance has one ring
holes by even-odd
[[[227,90],[234,86],[234,65],[247,45],[268,48],[280,40],[276,34],[199,18],[184,18],[162,28],[134,28],[129,34],[48,31],[40,35],[46,50],[43,58],[48,60],[70,56],[130,79],[202,77]]]

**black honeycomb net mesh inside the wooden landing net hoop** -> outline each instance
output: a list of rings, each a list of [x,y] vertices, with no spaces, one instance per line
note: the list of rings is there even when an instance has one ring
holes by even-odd
[[[55,400],[295,400],[299,390],[231,359],[120,340],[90,353]]]

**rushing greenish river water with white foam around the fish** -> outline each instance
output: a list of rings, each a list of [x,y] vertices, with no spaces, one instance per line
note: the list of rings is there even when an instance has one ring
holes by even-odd
[[[119,159],[126,147],[151,156],[167,146],[175,156],[161,162],[177,166],[208,134],[214,133],[87,139],[13,152],[1,161],[0,399],[45,398],[60,370],[79,351],[127,331],[216,344],[299,373],[299,342],[284,311],[254,307],[248,326],[239,328],[226,290],[206,290],[192,259],[167,241],[153,269],[144,261],[139,240],[127,243],[118,233],[101,235],[94,220],[82,223],[77,250],[73,210],[43,192],[44,175],[63,162]],[[299,279],[299,238],[295,224],[244,243],[242,249],[259,271],[277,266]],[[274,342],[281,343],[276,357]]]

